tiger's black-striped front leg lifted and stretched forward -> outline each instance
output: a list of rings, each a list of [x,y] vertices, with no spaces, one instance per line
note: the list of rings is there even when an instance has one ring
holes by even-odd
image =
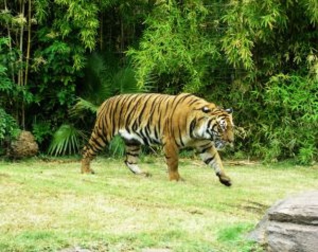
[[[226,186],[231,186],[231,179],[225,174],[220,156],[213,143],[203,142],[199,146],[197,146],[197,149],[203,162],[214,169],[216,176],[218,176],[219,178],[219,181]]]

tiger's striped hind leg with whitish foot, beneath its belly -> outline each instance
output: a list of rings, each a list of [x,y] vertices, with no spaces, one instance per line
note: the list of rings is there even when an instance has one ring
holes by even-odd
[[[124,141],[125,142],[125,150],[126,150],[126,158],[125,165],[136,175],[144,175],[149,177],[150,174],[148,172],[143,172],[138,163],[138,157],[140,153],[140,144],[132,141]]]

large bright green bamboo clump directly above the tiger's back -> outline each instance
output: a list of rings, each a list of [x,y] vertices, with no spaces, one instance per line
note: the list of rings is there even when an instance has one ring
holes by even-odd
[[[218,55],[204,29],[207,13],[201,1],[185,2],[182,7],[177,1],[162,2],[152,10],[139,48],[128,51],[139,86],[154,73],[168,81],[161,90],[197,92],[202,87],[207,59]]]

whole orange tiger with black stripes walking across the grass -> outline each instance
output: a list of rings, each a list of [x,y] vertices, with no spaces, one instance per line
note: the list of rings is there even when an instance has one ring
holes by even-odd
[[[221,109],[192,93],[120,94],[98,109],[96,122],[83,148],[82,173],[94,173],[90,162],[111,139],[119,135],[125,144],[125,165],[135,174],[149,175],[138,167],[141,145],[162,145],[170,180],[183,180],[178,172],[180,149],[196,148],[219,181],[231,186],[218,149],[233,145],[232,109]]]

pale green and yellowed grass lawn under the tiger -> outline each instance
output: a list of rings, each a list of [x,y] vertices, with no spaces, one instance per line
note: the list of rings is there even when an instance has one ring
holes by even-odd
[[[261,251],[245,235],[266,209],[318,181],[317,166],[287,163],[226,165],[231,188],[200,161],[180,161],[185,182],[168,181],[162,159],[141,164],[150,178],[112,159],[92,167],[96,175],[72,160],[0,163],[0,251]]]

